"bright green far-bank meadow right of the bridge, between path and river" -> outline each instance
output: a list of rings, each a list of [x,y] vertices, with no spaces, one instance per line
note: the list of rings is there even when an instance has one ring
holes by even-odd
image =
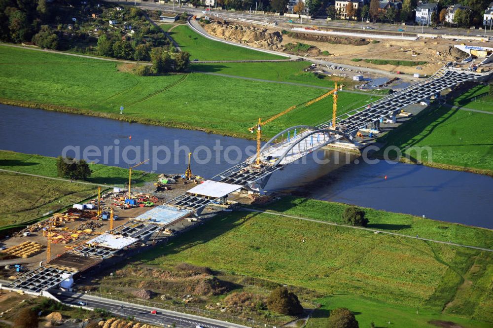
[[[431,156],[423,152],[423,163],[492,171],[492,124],[490,114],[439,107],[392,131],[383,141],[409,153],[411,158],[417,152],[409,147],[431,147]]]

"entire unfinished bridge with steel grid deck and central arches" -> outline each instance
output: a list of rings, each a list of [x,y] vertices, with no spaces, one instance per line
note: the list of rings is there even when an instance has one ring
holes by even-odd
[[[39,268],[26,272],[2,288],[39,294],[57,287],[63,281],[70,280],[72,275],[87,270],[118,253],[145,245],[149,240],[157,240],[156,236],[160,231],[184,218],[200,216],[206,206],[224,199],[234,191],[247,189],[261,192],[274,172],[320,147],[333,143],[358,146],[355,137],[360,129],[378,129],[381,119],[394,118],[408,105],[427,101],[439,95],[442,90],[454,88],[460,83],[482,82],[489,77],[490,74],[486,73],[444,67],[422,82],[333,117],[331,121],[317,126],[298,125],[284,129],[263,146],[259,146],[258,154],[159,206],[160,209],[151,210],[164,211],[168,216],[164,223],[132,219],[44,263]],[[278,142],[280,137],[281,141]]]

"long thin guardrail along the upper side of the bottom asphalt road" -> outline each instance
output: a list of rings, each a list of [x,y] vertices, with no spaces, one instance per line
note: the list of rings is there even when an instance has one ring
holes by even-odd
[[[231,322],[231,323],[235,323],[235,324],[239,324],[239,325],[243,325],[243,326],[247,326],[247,327],[252,327],[252,328],[255,328],[255,327],[258,327],[258,328],[277,328],[277,326],[262,323],[262,322],[259,322],[259,321],[253,320],[253,319],[243,318],[243,317],[238,317],[238,316],[232,316],[230,314],[209,311],[206,309],[201,309],[201,308],[196,308],[196,307],[191,307],[191,306],[186,306],[186,307],[172,306],[172,305],[167,305],[167,304],[163,304],[163,303],[154,303],[154,302],[141,300],[141,299],[129,299],[129,298],[119,297],[119,296],[115,296],[115,295],[111,295],[111,294],[104,294],[104,293],[99,293],[99,292],[87,292],[87,291],[80,291],[80,290],[75,290],[75,289],[73,289],[72,292],[77,292],[77,293],[95,296],[95,297],[100,297],[100,298],[112,299],[112,300],[116,300],[116,301],[121,301],[121,302],[141,305],[141,306],[161,308],[164,310],[169,310],[169,311],[174,311],[174,312],[193,314],[193,315],[197,315],[197,316],[222,320],[222,321]]]

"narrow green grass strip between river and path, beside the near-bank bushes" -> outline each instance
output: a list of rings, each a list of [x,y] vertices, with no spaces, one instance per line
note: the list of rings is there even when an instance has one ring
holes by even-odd
[[[56,158],[41,155],[23,154],[14,151],[0,150],[0,169],[36,174],[46,177],[57,177]],[[128,170],[106,166],[102,164],[89,164],[92,174],[87,182],[103,183],[110,185],[123,185],[128,182]],[[136,184],[154,181],[157,174],[133,170],[132,181]]]

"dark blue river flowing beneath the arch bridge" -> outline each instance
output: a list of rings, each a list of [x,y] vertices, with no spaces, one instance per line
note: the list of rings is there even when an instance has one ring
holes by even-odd
[[[184,172],[190,149],[192,171],[205,178],[254,151],[254,142],[244,139],[0,105],[0,149],[59,156],[67,146],[72,157],[81,157],[84,149],[89,154],[99,149],[100,156],[88,159],[124,168],[150,158],[138,169],[158,173]],[[78,154],[73,150],[77,146]],[[319,164],[313,156],[330,161]],[[354,164],[354,156],[344,164],[346,155],[329,150],[313,156],[276,172],[266,190],[303,190],[316,199],[493,228],[490,177],[386,161]]]

